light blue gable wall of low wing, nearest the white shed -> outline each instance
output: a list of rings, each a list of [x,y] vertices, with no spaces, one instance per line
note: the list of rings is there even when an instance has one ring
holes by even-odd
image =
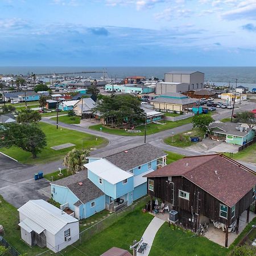
[[[53,193],[55,188],[55,193]],[[79,200],[67,187],[51,184],[52,199],[60,204],[68,203],[68,207],[75,212],[74,204]]]

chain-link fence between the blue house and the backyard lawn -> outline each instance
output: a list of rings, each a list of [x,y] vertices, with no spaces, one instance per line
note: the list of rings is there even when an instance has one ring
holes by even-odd
[[[97,222],[93,226],[90,226],[88,229],[83,230],[82,232],[80,232],[80,243],[89,240],[95,234],[102,232],[106,228],[109,228],[109,226],[113,225],[118,220],[121,220],[121,218],[127,216],[127,214],[134,212],[134,210],[137,210],[139,207],[144,208],[148,200],[149,199],[147,196],[143,197],[142,199],[137,200],[135,204],[132,204],[129,207],[122,208],[117,212],[110,214],[103,220]]]

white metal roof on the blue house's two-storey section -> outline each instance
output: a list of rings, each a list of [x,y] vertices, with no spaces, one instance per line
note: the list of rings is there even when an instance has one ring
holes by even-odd
[[[111,184],[117,184],[122,180],[133,177],[129,172],[123,171],[106,159],[96,160],[92,163],[85,164],[84,166],[98,177],[101,177]]]

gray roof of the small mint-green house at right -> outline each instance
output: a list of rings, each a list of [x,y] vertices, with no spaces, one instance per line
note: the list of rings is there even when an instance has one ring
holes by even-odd
[[[230,134],[230,135],[235,135],[238,137],[245,137],[248,133],[250,133],[251,129],[247,128],[247,131],[238,131],[236,127],[239,127],[237,123],[211,123],[209,126],[209,129],[211,131],[215,131],[216,133],[221,133],[221,134]],[[221,129],[221,130],[219,130]]]

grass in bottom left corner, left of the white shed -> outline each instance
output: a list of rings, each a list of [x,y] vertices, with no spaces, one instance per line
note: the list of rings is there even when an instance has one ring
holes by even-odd
[[[32,248],[30,248],[20,239],[20,228],[18,226],[18,211],[15,207],[13,207],[13,205],[3,200],[2,196],[0,196],[0,201],[0,220],[1,225],[3,225],[3,228],[5,229],[5,240],[9,242],[17,251],[19,251],[19,253],[27,253],[27,256],[36,255],[39,253],[43,253],[43,251],[46,251],[47,248],[41,249],[39,246],[33,246]]]

